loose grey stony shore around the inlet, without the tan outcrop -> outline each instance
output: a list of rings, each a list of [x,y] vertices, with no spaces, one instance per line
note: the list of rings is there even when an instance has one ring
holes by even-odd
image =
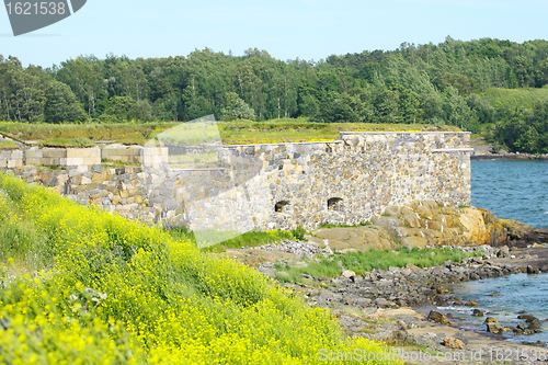
[[[308,256],[318,253],[328,254],[324,249],[308,242],[285,241],[279,246],[271,244],[255,249],[279,250]],[[518,344],[504,341],[501,335],[495,334],[496,331],[487,333],[484,331],[489,329],[487,324],[477,331],[465,330],[458,323],[450,321],[450,315],[449,318],[443,313],[439,318],[433,315],[429,318],[413,309],[426,305],[473,307],[473,303],[459,303],[461,299],[450,294],[452,285],[455,283],[523,272],[529,274],[548,272],[548,248],[543,244],[537,243],[529,248],[481,246],[459,249],[466,252],[480,251],[483,254],[465,259],[460,263],[447,261],[434,267],[420,269],[409,264],[407,267],[390,267],[387,271],[372,270],[363,276],[344,272],[334,278],[308,277],[310,282],[320,283],[319,285],[285,284],[284,286],[301,296],[311,307],[329,308],[349,335],[383,341],[409,356],[413,352],[418,353],[418,361],[410,363],[478,363],[472,358],[447,361],[447,353],[458,357],[466,356],[465,351],[468,351],[470,356],[475,351],[481,352],[483,354],[481,364],[501,363],[499,355],[504,352],[517,352],[522,356],[509,357],[506,362],[509,364],[544,363],[528,361],[525,356],[533,358],[534,354],[546,350],[546,343]],[[275,273],[270,262],[261,263],[258,270],[269,276],[274,276]],[[432,353],[444,354],[445,358],[433,356],[426,361],[421,357]],[[548,354],[546,358],[548,360]]]

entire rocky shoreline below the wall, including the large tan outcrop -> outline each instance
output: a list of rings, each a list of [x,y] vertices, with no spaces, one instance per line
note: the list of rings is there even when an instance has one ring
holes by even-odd
[[[457,283],[523,272],[547,273],[548,247],[543,243],[547,238],[548,230],[535,230],[516,220],[499,219],[486,209],[446,207],[436,202],[422,201],[388,206],[380,216],[372,217],[369,223],[361,226],[319,228],[306,236],[308,241],[227,249],[222,254],[276,278],[282,277],[279,275],[286,271],[284,267],[307,267],[309,262],[318,262],[321,258],[336,260],[336,254],[369,249],[390,250],[395,254],[400,247],[475,252],[476,255],[461,262],[446,261],[425,269],[408,264],[406,267],[372,270],[363,275],[345,270],[339,261],[341,275],[338,277],[300,274],[298,282],[301,284],[283,286],[301,296],[311,307],[329,308],[351,337],[383,341],[419,355],[490,351],[479,362],[477,358],[447,361],[436,355],[408,363],[499,364],[500,358],[495,355],[500,351],[523,355],[523,352],[533,354],[548,349],[540,342],[504,341],[502,334],[496,334],[500,329],[496,323],[490,322],[491,319],[472,331],[460,326],[457,318],[439,313],[441,321],[434,320],[435,315],[427,320],[429,312],[418,310],[449,305],[472,308],[473,303],[463,303],[461,298],[452,294],[453,285]],[[287,272],[285,274],[288,275]],[[490,328],[488,324],[493,331],[487,331]],[[539,331],[538,328],[529,329],[529,324],[520,329],[516,327],[515,331],[512,328],[502,330],[507,332],[506,335],[525,330],[532,333]],[[524,356],[507,360],[509,364],[538,364],[536,361],[527,362]]]

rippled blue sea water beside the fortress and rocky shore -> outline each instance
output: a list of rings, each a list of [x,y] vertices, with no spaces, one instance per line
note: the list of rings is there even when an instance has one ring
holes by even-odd
[[[472,205],[491,210],[499,218],[516,219],[534,228],[548,228],[548,161],[471,161]],[[548,342],[548,274],[515,274],[457,284],[454,295],[464,303],[475,300],[484,317],[472,317],[471,307],[439,307],[453,313],[460,327],[486,331],[487,317],[500,323],[516,327],[526,324],[517,319],[520,313],[537,317],[543,321],[541,333],[502,337],[509,341],[534,343]],[[425,309],[425,308],[423,308]],[[460,319],[459,319],[460,318]]]

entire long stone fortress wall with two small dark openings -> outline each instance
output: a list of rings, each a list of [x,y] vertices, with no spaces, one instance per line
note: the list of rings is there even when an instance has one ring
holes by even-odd
[[[469,141],[453,132],[341,133],[338,141],[217,146],[215,168],[199,169],[173,168],[168,151],[178,149],[168,147],[31,149],[1,152],[0,169],[148,224],[244,232],[356,225],[419,199],[470,205]]]

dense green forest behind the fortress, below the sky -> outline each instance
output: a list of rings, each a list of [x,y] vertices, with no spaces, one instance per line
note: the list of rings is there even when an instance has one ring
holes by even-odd
[[[511,151],[548,152],[548,42],[447,37],[395,50],[277,60],[210,49],[187,57],[81,56],[23,68],[0,56],[0,119],[426,123],[482,133]]]

